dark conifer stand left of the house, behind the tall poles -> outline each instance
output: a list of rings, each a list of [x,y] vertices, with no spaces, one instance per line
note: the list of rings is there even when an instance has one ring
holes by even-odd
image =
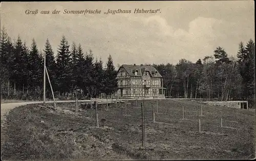
[[[43,51],[38,51],[35,39],[29,48],[18,36],[11,41],[6,29],[1,31],[1,97],[4,99],[40,100],[43,95],[44,56],[47,73],[54,95],[60,99],[74,97],[97,97],[103,93],[109,96],[117,87],[116,70],[111,55],[106,67],[103,61],[95,59],[93,52],[83,53],[81,44],[71,47],[62,36],[54,57],[49,39]],[[47,77],[46,77],[47,80]],[[73,95],[74,94],[74,95]],[[50,85],[46,81],[46,97],[52,98]]]

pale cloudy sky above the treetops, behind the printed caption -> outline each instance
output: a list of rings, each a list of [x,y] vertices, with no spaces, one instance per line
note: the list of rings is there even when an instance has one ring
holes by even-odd
[[[64,14],[98,10],[97,14]],[[108,10],[131,13],[104,14]],[[156,13],[134,13],[158,10]],[[37,14],[26,14],[26,10]],[[59,14],[52,14],[58,10]],[[49,11],[49,14],[40,14]],[[254,32],[254,1],[148,1],[148,2],[1,2],[1,29],[12,40],[18,35],[44,50],[48,38],[56,55],[62,35],[70,46],[80,43],[105,65],[109,54],[118,64],[177,64],[213,56],[222,47],[236,56]]]

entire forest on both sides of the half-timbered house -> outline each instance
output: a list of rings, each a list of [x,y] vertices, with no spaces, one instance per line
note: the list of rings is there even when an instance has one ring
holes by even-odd
[[[204,100],[248,100],[255,106],[255,44],[238,42],[237,58],[229,57],[223,47],[216,48],[196,62],[181,59],[177,64],[153,65],[163,76],[168,98],[202,98]],[[232,53],[233,54],[233,53]],[[39,51],[35,39],[28,46],[22,38],[12,41],[5,28],[1,30],[1,99],[42,100],[44,55],[54,96],[64,100],[78,91],[78,96],[110,96],[117,89],[117,70],[111,55],[103,64],[93,51],[83,52],[80,43],[63,35],[54,54],[47,39]],[[54,56],[56,55],[56,56]],[[104,67],[103,67],[104,66]],[[46,97],[51,99],[50,85]],[[82,92],[81,92],[82,91]]]

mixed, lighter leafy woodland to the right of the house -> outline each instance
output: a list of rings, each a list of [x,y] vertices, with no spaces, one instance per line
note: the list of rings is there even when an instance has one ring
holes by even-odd
[[[150,64],[148,64],[150,65]],[[186,59],[173,64],[153,64],[163,76],[166,96],[220,101],[248,100],[255,106],[255,44],[250,39],[238,45],[237,59],[222,47],[213,56],[195,63]]]

